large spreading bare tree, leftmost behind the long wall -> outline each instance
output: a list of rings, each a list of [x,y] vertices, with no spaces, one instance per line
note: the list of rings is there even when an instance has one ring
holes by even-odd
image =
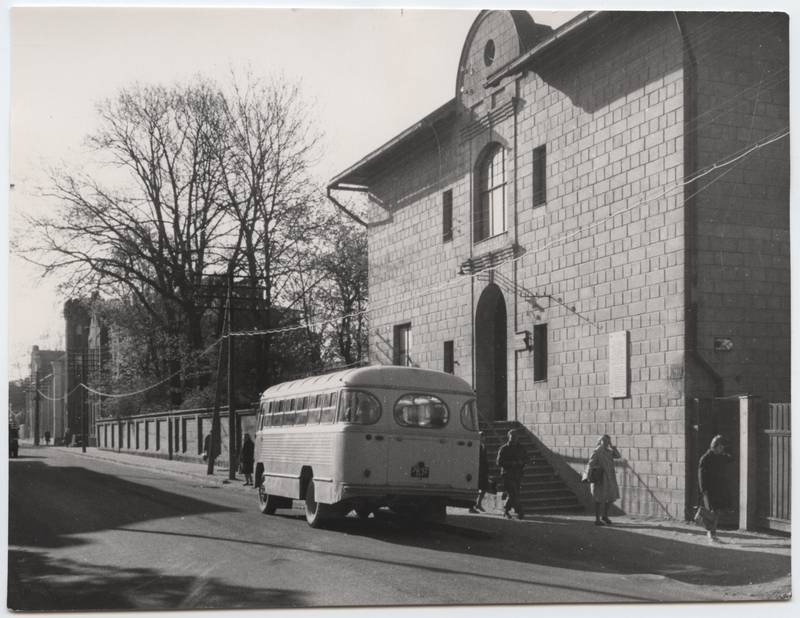
[[[37,249],[45,275],[64,276],[69,296],[99,290],[135,299],[171,342],[164,371],[174,373],[186,350],[203,345],[198,292],[230,233],[218,156],[227,134],[224,99],[203,81],[134,86],[98,112],[100,127],[88,142],[121,187],[86,173],[54,174],[48,195],[57,206],[29,218],[34,236],[22,245]]]

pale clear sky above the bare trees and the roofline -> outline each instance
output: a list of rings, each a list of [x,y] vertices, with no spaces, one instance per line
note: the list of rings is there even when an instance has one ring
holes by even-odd
[[[44,7],[11,3],[10,230],[51,206],[48,170],[86,157],[95,105],[133,82],[172,83],[234,70],[300,80],[323,131],[321,182],[450,99],[464,39],[461,10],[265,7]],[[301,4],[301,3],[296,3]],[[535,15],[557,26],[577,14]],[[9,185],[4,185],[9,186]],[[9,255],[8,375],[27,374],[33,345],[63,349],[56,282]]]

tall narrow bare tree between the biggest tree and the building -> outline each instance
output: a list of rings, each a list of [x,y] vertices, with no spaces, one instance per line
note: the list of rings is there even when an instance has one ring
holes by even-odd
[[[243,285],[260,292],[252,297],[252,309],[258,327],[269,331],[304,314],[305,296],[297,289],[306,285],[326,225],[322,194],[310,177],[320,135],[298,85],[283,80],[234,80],[226,110],[226,191],[241,233],[237,272]],[[259,338],[256,372],[266,384],[281,373],[276,348],[287,345],[296,339]]]

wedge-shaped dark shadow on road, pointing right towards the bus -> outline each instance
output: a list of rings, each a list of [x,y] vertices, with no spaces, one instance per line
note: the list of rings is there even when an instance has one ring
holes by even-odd
[[[88,496],[88,498],[87,498]],[[132,483],[83,467],[9,466],[9,545],[81,545],[77,535],[142,521],[237,509]]]

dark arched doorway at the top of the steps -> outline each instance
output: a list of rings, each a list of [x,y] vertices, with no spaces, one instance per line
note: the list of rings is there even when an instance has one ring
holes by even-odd
[[[506,301],[492,283],[475,311],[475,391],[478,410],[486,421],[508,418],[506,353]]]

